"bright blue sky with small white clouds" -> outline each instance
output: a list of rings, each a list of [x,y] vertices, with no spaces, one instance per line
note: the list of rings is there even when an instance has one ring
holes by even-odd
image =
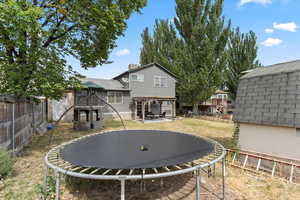
[[[76,71],[91,78],[112,78],[138,64],[141,33],[153,30],[155,19],[173,19],[175,0],[148,0],[142,13],[134,13],[127,21],[124,36],[116,41],[109,60],[96,68],[84,70],[78,60],[67,61]],[[300,59],[300,0],[224,0],[224,16],[242,32],[254,31],[257,36],[258,59],[267,66]]]

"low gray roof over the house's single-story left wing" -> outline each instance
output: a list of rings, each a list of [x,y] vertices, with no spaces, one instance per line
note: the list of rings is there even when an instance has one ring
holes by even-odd
[[[101,88],[104,90],[128,90],[118,80],[84,78],[82,84],[88,88]]]

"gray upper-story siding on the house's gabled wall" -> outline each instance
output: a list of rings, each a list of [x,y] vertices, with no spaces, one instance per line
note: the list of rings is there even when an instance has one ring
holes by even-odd
[[[131,74],[143,74],[144,82],[132,81]],[[154,76],[166,77],[168,80],[167,87],[154,87]],[[131,90],[132,97],[175,97],[175,78],[155,65],[139,70],[137,72],[131,72],[129,74],[129,81],[129,89]]]

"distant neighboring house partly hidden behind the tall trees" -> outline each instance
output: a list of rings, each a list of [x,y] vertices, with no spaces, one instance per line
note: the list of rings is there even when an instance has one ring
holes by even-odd
[[[228,92],[217,90],[207,101],[199,106],[199,111],[204,114],[227,114],[232,112],[231,100]]]

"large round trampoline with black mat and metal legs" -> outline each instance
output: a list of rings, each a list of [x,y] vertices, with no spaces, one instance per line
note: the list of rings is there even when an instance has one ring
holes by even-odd
[[[225,154],[222,145],[208,138],[158,130],[122,130],[84,136],[51,149],[45,157],[56,173],[56,199],[61,174],[96,180],[119,180],[121,199],[125,181],[154,179],[194,172],[196,199],[200,199],[200,170],[222,162],[222,199],[225,199]]]

